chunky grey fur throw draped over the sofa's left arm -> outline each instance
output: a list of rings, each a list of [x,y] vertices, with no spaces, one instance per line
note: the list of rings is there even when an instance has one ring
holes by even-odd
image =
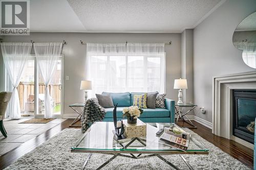
[[[105,109],[99,105],[97,98],[88,99],[81,116],[82,133],[86,132],[94,122],[102,121],[105,113]]]

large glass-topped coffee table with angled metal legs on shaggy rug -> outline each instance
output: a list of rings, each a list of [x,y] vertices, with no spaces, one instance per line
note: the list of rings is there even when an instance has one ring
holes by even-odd
[[[134,159],[156,156],[170,166],[180,169],[173,163],[163,158],[162,155],[180,155],[189,169],[193,169],[193,167],[182,155],[208,154],[209,150],[204,148],[204,146],[193,138],[193,136],[190,137],[186,152],[169,147],[165,143],[161,142],[156,136],[156,132],[161,128],[169,127],[171,125],[172,124],[170,123],[146,123],[146,136],[116,140],[112,132],[114,130],[113,122],[96,122],[86,131],[86,133],[81,136],[74,147],[71,148],[71,152],[90,153],[81,169],[86,166],[93,153],[114,155],[97,169],[101,169],[117,156],[124,156]]]

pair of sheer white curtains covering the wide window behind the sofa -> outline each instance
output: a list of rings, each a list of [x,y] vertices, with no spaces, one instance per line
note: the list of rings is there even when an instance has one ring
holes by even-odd
[[[87,79],[92,94],[165,92],[164,43],[87,44]]]

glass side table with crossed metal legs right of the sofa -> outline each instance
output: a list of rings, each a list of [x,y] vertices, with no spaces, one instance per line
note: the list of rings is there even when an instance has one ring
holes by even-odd
[[[183,127],[183,128],[197,128],[186,116],[186,114],[189,113],[190,111],[194,110],[194,112],[195,112],[196,107],[197,107],[197,105],[192,104],[192,103],[183,103],[183,104],[176,103],[175,104],[175,110],[176,110],[175,115],[177,115],[176,124],[178,124],[179,118],[182,118],[184,122],[191,125],[190,127]],[[178,110],[178,108],[179,108],[179,110]],[[188,108],[189,110],[187,110],[185,113],[183,113],[183,108]]]

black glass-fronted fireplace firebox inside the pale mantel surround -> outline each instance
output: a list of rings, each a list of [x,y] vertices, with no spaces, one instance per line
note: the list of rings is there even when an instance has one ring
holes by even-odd
[[[254,143],[256,90],[233,90],[233,135]]]

